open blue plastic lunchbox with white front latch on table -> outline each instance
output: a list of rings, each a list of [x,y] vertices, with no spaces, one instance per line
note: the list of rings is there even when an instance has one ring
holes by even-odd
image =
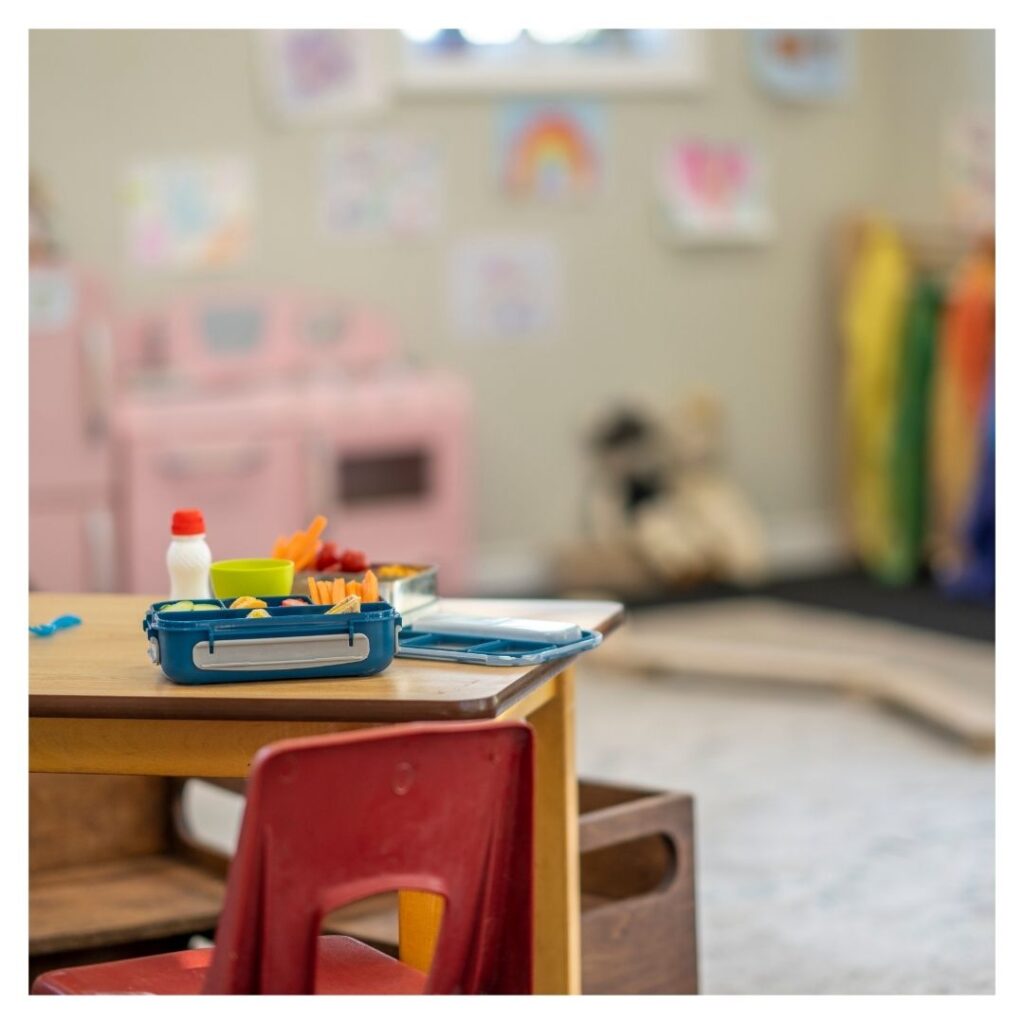
[[[269,615],[260,618],[216,599],[198,602],[217,606],[208,611],[163,611],[175,602],[158,601],[142,621],[150,659],[171,682],[194,685],[372,676],[395,655],[401,616],[386,601],[328,615],[327,604],[261,600]]]

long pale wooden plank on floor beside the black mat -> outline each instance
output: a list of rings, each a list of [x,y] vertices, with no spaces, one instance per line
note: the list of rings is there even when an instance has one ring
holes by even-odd
[[[991,644],[764,599],[641,611],[591,664],[681,678],[839,688],[979,750],[995,740]]]

